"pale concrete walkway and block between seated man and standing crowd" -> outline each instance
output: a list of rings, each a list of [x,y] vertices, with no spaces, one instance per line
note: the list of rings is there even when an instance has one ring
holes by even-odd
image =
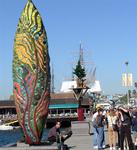
[[[93,150],[93,135],[89,135],[88,122],[72,122],[72,132],[71,138],[65,142],[70,150]],[[90,132],[92,132],[92,128]],[[107,132],[105,132],[105,144],[108,144]]]

